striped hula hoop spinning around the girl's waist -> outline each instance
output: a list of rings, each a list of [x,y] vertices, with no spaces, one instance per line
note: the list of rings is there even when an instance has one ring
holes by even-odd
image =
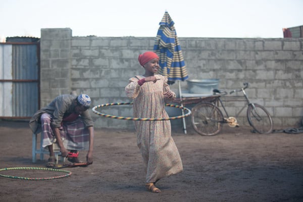
[[[168,118],[134,118],[134,117],[119,117],[119,116],[114,116],[114,115],[108,115],[104,113],[100,113],[96,111],[98,108],[103,108],[103,107],[108,107],[108,106],[114,106],[114,105],[133,105],[133,103],[108,103],[104,105],[98,105],[92,108],[93,113],[106,117],[106,118],[112,118],[112,119],[120,119],[120,120],[130,120],[130,121],[166,121],[166,120],[174,120],[174,119],[182,119],[184,117],[188,117],[191,114],[191,111],[185,107],[178,106],[178,105],[170,105],[166,104],[165,107],[174,107],[174,108],[179,108],[181,110],[187,111],[186,114],[181,115],[181,116],[175,116],[175,117],[168,117]]]

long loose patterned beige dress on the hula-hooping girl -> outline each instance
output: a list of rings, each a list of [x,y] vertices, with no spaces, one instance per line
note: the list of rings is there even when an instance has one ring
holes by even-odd
[[[138,85],[143,76],[129,79],[125,87],[128,97],[134,99],[133,114],[140,118],[168,117],[165,104],[175,99],[165,99],[163,93],[170,90],[167,77],[155,75],[157,82]],[[183,171],[179,151],[171,137],[170,121],[134,121],[137,131],[137,145],[146,166],[146,183]]]

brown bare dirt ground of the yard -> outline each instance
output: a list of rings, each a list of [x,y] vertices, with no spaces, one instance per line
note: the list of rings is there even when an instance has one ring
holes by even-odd
[[[0,134],[0,168],[44,168],[48,155],[32,163],[27,122],[0,121]],[[0,177],[0,201],[303,201],[303,133],[265,135],[225,125],[216,136],[200,136],[190,128],[187,134],[173,129],[172,136],[184,171],[160,180],[160,194],[144,188],[134,131],[97,129],[92,165],[64,168],[72,174],[60,179]],[[85,155],[80,153],[80,159]],[[6,172],[0,174],[64,175]]]

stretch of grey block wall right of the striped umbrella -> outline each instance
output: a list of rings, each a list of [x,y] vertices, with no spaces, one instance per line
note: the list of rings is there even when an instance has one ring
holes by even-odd
[[[248,82],[248,97],[266,107],[275,128],[300,124],[302,38],[182,38],[180,41],[190,78],[218,78],[219,88],[226,91]],[[234,116],[236,113],[232,112],[238,112],[242,103],[226,104],[229,115]],[[238,120],[240,124],[247,124],[245,116],[243,113]]]

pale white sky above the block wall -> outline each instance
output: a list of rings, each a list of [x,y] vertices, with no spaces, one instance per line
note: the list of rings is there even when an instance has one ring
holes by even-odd
[[[178,37],[283,38],[303,25],[303,0],[0,0],[0,42],[40,38],[41,28],[73,36],[156,37],[165,11]]]

